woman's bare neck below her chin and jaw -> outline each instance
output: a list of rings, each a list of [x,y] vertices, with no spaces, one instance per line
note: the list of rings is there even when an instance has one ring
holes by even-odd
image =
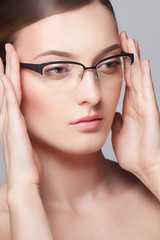
[[[94,199],[106,181],[102,151],[84,155],[62,154],[33,144],[42,163],[40,194],[46,204],[74,208],[79,201]]]

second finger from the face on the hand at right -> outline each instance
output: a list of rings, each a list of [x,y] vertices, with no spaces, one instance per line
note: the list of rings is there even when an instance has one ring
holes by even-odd
[[[134,63],[130,66],[130,84],[132,90],[142,96],[142,72],[141,62],[136,49],[135,41],[133,38],[127,40],[127,49],[129,53],[134,54]]]

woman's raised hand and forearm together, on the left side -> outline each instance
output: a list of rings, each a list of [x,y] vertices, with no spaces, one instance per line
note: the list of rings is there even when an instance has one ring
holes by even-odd
[[[6,166],[11,239],[53,240],[39,194],[42,168],[19,108],[19,60],[11,44],[6,45],[6,52],[5,74],[0,59],[0,140]]]

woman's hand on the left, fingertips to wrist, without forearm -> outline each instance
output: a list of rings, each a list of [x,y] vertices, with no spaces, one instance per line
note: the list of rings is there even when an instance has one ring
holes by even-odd
[[[18,55],[6,44],[6,67],[0,59],[0,142],[5,160],[8,192],[38,185],[42,168],[33,150],[20,111],[22,98]]]

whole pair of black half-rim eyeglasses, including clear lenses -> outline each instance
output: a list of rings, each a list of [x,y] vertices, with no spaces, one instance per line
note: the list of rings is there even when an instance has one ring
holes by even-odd
[[[128,60],[127,60],[128,59]],[[72,61],[54,61],[42,64],[20,63],[21,68],[42,75],[44,82],[55,91],[75,89],[82,80],[84,71],[94,70],[95,78],[104,86],[112,85],[124,78],[124,62],[134,62],[134,54],[121,52],[100,60],[92,67]]]

